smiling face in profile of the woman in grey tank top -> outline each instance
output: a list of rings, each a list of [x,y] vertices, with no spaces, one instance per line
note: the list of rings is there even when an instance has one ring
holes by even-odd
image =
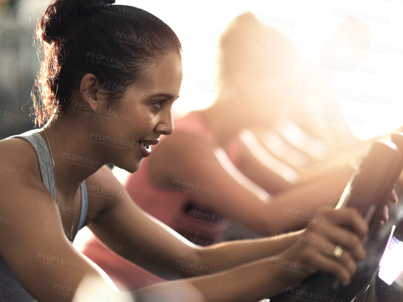
[[[97,123],[98,141],[102,134],[110,137],[102,148],[114,165],[130,173],[137,171],[152,148],[141,147],[143,141],[154,140],[155,144],[161,135],[172,134],[171,108],[179,97],[181,83],[181,57],[171,53],[163,56],[141,83],[125,87],[124,96],[112,109],[116,114],[109,114],[106,123]]]

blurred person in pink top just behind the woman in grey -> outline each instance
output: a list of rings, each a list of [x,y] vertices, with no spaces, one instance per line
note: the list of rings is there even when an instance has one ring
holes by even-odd
[[[268,131],[272,135],[276,133],[272,121],[279,115],[280,105],[290,102],[290,99],[299,104],[298,95],[303,90],[297,85],[302,79],[293,79],[297,73],[297,52],[291,41],[278,29],[260,24],[251,15],[241,14],[222,29],[222,33],[231,35],[218,42],[214,82],[253,91],[253,98],[247,93],[245,96],[235,92],[231,96],[217,93],[210,108],[189,112],[187,116],[174,120],[174,133],[161,137],[151,155],[143,159],[139,170],[130,174],[124,183],[131,199],[141,209],[202,246],[223,241],[228,226],[234,226],[231,230],[235,233],[233,238],[239,238],[237,232],[244,227],[262,236],[305,228],[318,208],[337,204],[353,171],[348,162],[351,157],[359,159],[361,156],[347,153],[348,160],[344,160],[344,164],[340,158],[333,161],[334,166],[343,167],[342,172],[330,170],[330,174],[324,174],[314,171],[315,177],[310,173],[312,170],[294,170],[297,155],[307,158],[302,151],[287,153],[281,144],[271,142],[272,149],[288,156],[288,163],[291,163],[287,165],[280,159],[276,162],[270,160],[264,142],[256,143],[261,130],[265,131],[264,134]],[[252,43],[240,46],[236,37],[265,41],[268,47]],[[229,43],[231,39],[233,43]],[[262,72],[260,77],[256,77],[239,72],[237,68],[231,68],[236,62],[281,70],[282,76]],[[315,88],[315,91],[319,90]],[[253,117],[253,120],[260,121],[260,125],[253,122],[238,125],[234,123],[235,118],[223,121],[220,116],[228,113],[234,117]],[[270,121],[270,127],[267,127],[268,122],[263,124],[262,121]],[[249,133],[238,135],[241,132]],[[312,139],[305,139],[298,133],[287,132],[317,153],[329,149],[322,143],[319,146],[310,143]],[[331,132],[324,133],[334,137]],[[220,138],[231,143],[227,140],[220,142]],[[268,160],[265,161],[266,157]],[[89,234],[86,239],[81,252],[106,271],[116,284],[131,290],[142,287],[141,279],[145,274],[142,270],[129,265],[107,247],[100,247],[96,236]]]

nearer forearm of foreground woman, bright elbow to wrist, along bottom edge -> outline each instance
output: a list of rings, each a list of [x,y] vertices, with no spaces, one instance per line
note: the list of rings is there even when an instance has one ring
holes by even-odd
[[[133,292],[116,292],[93,275],[75,288],[71,300],[110,302],[256,302],[287,289],[287,272],[276,268],[270,258],[260,259],[223,272],[200,271],[199,276],[167,282],[150,280],[148,286]]]

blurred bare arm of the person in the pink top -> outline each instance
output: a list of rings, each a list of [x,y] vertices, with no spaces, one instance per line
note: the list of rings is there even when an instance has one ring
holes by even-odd
[[[264,235],[303,228],[312,217],[312,212],[323,205],[335,206],[338,201],[338,198],[329,200],[312,196],[315,193],[312,186],[341,194],[348,180],[347,177],[330,175],[314,184],[298,186],[270,197],[260,186],[237,172],[235,166],[230,168],[231,175],[223,174],[225,171],[218,168],[219,173],[202,169],[202,163],[220,163],[222,152],[217,147],[183,139],[176,133],[160,144],[149,161],[150,179],[155,186],[171,189],[181,181],[194,184],[194,187],[204,186],[225,192],[221,196],[206,193],[206,197],[195,195],[195,198],[218,215],[245,223],[245,227]],[[267,179],[267,182],[270,181]],[[130,183],[127,185],[130,186]]]

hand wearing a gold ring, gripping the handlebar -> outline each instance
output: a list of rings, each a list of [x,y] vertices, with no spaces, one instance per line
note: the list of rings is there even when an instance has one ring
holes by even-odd
[[[271,262],[284,269],[285,273],[279,273],[287,276],[284,280],[288,284],[299,285],[319,273],[333,275],[347,285],[357,271],[355,263],[365,258],[363,243],[367,233],[368,224],[356,209],[322,208],[297,243],[271,257]],[[340,252],[335,251],[338,249]]]

